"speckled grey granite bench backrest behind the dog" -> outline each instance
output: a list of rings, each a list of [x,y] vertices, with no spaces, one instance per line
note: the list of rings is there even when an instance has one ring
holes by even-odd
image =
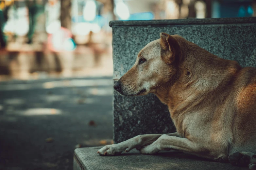
[[[221,58],[236,60],[243,67],[256,67],[255,17],[188,20],[112,21],[113,80],[124,75],[133,66],[138,52],[160,38],[161,32],[179,34]],[[115,143],[139,134],[175,131],[167,107],[155,95],[126,97],[117,92],[113,95]]]

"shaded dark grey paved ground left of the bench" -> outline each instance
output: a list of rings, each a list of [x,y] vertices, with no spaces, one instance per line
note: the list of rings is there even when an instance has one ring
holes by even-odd
[[[72,170],[111,139],[111,77],[0,82],[0,169]]]

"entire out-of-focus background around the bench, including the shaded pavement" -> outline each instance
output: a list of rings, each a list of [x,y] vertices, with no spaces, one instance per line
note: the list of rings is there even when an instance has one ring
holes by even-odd
[[[0,0],[0,169],[112,141],[112,20],[256,16],[254,0]]]

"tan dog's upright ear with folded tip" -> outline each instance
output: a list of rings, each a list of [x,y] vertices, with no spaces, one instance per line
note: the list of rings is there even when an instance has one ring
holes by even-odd
[[[160,38],[161,57],[166,64],[171,64],[175,58],[179,57],[179,43],[173,36],[166,33],[160,33]]]

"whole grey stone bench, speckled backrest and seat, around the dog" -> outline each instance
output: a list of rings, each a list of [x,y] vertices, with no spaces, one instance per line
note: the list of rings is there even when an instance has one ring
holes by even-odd
[[[134,64],[138,52],[160,33],[179,34],[219,57],[256,67],[256,17],[155,21],[111,21],[113,83]],[[127,97],[113,92],[114,143],[140,134],[175,132],[167,106],[154,94]],[[186,154],[101,157],[98,148],[75,150],[77,169],[236,169],[227,163],[197,159]],[[240,169],[240,168],[238,168]]]

